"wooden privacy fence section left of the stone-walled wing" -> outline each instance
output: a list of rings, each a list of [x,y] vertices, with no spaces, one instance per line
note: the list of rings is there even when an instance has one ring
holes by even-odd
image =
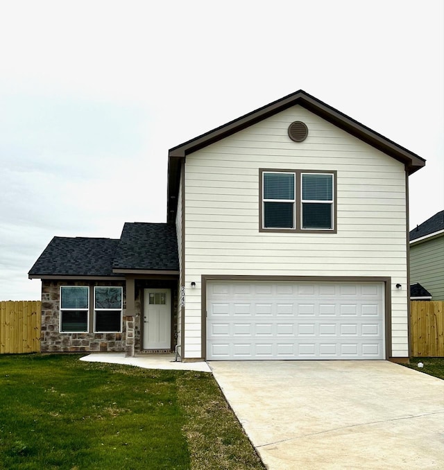
[[[0,302],[0,354],[40,352],[40,300]]]

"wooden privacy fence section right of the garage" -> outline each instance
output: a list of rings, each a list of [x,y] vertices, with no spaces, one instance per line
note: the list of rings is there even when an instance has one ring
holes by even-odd
[[[410,302],[413,357],[444,357],[444,302]]]

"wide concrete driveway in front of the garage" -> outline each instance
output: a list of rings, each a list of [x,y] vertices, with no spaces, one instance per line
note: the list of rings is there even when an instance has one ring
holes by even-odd
[[[388,361],[210,362],[270,470],[444,469],[444,381]]]

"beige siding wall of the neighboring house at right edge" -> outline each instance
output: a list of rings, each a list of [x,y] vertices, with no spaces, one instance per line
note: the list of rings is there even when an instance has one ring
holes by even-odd
[[[410,246],[410,282],[419,282],[432,300],[444,300],[444,234]]]

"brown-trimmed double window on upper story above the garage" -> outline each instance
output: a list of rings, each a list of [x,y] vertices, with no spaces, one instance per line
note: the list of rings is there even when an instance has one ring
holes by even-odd
[[[259,231],[336,233],[336,172],[259,170]]]

